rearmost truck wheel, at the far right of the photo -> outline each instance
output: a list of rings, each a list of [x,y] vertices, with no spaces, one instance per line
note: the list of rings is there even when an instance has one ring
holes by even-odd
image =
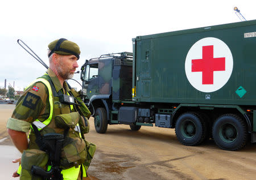
[[[224,150],[236,151],[245,146],[246,124],[236,114],[221,115],[212,128],[214,142]]]

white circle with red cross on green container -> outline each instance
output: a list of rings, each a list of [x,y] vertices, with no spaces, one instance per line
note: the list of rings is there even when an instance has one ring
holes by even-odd
[[[185,60],[187,79],[201,92],[214,92],[222,88],[232,70],[233,56],[228,45],[214,37],[202,38],[193,44]]]

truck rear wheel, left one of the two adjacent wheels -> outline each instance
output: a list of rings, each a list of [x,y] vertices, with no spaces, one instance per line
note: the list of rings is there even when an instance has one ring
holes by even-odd
[[[175,126],[177,139],[184,145],[199,145],[205,139],[205,122],[196,113],[184,113]]]

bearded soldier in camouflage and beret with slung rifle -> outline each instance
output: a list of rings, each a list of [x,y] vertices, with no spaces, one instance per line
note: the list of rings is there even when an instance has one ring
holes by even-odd
[[[33,149],[38,151],[40,151],[39,149],[47,150],[46,147],[42,147],[45,144],[42,145],[42,140],[39,139],[42,139],[43,135],[49,135],[49,133],[53,132],[63,134],[65,139],[62,146],[64,148],[61,147],[61,151],[64,152],[59,153],[61,154],[60,163],[56,163],[58,167],[60,166],[59,169],[61,169],[63,178],[80,179],[82,178],[81,176],[86,177],[85,170],[88,168],[84,167],[85,156],[88,155],[88,151],[86,152],[86,148],[84,148],[86,147],[83,140],[85,132],[81,134],[81,130],[86,129],[87,125],[89,131],[87,118],[90,117],[90,112],[84,103],[78,100],[78,93],[73,89],[69,89],[68,84],[65,82],[65,80],[73,77],[76,68],[79,67],[77,60],[79,59],[80,48],[75,42],[64,38],[51,42],[48,48],[49,68],[46,74],[36,79],[34,83],[26,88],[26,91],[24,91],[24,94],[16,104],[13,115],[7,121],[7,128],[15,147],[23,153],[21,174],[26,171],[31,173],[31,166],[27,168],[25,163],[24,165],[22,163],[30,160],[23,160],[23,158],[27,158],[26,155],[29,153],[31,155]],[[68,100],[65,99],[67,97]],[[81,125],[84,127],[81,127]],[[29,130],[30,141],[28,142],[26,132]],[[67,142],[67,139],[73,144],[71,145],[71,143]],[[75,147],[77,154],[73,154],[75,151],[68,149],[68,147]],[[47,152],[50,151],[47,150]],[[72,152],[72,155],[67,152]],[[39,152],[39,154],[42,153],[44,151]],[[37,155],[38,157],[39,154]],[[50,157],[51,155],[49,155]],[[15,160],[14,162],[17,161]],[[46,166],[48,166],[47,169],[49,170],[51,166],[49,166],[49,161],[47,163],[42,168],[46,169]],[[31,177],[33,175],[36,174],[32,174]],[[17,172],[13,174],[13,177],[18,176]],[[22,175],[20,175],[20,179],[22,179]]]

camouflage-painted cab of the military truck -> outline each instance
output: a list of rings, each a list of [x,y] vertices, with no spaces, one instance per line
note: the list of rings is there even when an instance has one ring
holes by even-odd
[[[86,60],[81,67],[82,95],[93,117],[96,117],[94,125],[97,132],[104,133],[108,124],[118,122],[115,112],[119,102],[132,102],[132,76],[133,54],[129,52],[101,55]],[[97,118],[99,115],[101,117]],[[98,122],[102,117],[104,125]]]

